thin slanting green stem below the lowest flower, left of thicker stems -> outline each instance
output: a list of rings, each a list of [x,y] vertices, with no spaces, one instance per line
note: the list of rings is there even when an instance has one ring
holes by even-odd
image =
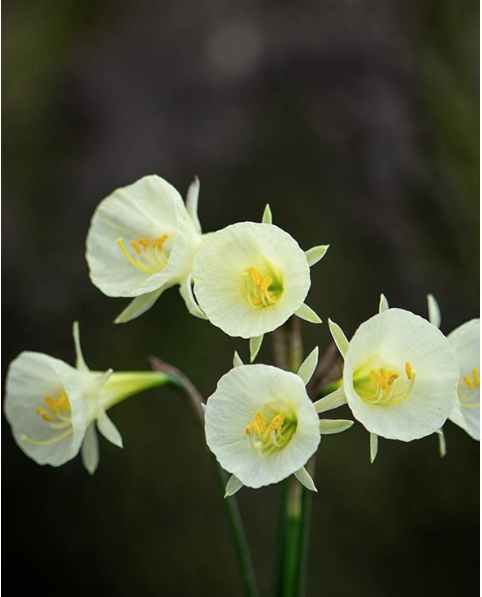
[[[216,466],[217,477],[224,493],[228,475],[219,466],[217,460],[213,458]],[[244,532],[243,521],[241,520],[241,513],[236,498],[234,496],[224,499],[226,506],[226,513],[228,515],[229,524],[234,537],[234,544],[236,546],[236,553],[241,566],[243,575],[244,589],[247,597],[258,597],[258,586],[256,584],[256,576],[254,573],[253,561],[249,551],[246,533]]]

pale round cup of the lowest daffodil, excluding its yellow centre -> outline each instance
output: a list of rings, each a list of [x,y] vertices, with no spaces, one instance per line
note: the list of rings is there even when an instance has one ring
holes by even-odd
[[[259,411],[295,412],[291,441],[265,458],[251,448],[246,426]],[[244,365],[224,375],[206,405],[206,441],[221,466],[248,487],[277,483],[304,466],[320,442],[318,416],[301,379],[267,365]]]

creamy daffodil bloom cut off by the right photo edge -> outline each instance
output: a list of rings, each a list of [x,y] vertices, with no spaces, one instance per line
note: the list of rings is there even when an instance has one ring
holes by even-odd
[[[460,366],[458,401],[449,419],[480,440],[480,319],[472,319],[448,335]]]

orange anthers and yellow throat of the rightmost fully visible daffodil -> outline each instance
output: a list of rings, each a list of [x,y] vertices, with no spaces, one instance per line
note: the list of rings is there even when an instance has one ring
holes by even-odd
[[[360,376],[354,383],[355,390],[366,404],[396,406],[404,402],[415,383],[411,363],[405,363],[402,373],[385,367],[370,369],[368,376]]]

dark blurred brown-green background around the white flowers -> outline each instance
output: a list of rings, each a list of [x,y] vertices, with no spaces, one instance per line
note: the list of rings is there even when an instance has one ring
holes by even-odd
[[[243,342],[190,317],[171,290],[124,326],[94,288],[85,235],[114,188],[157,173],[201,178],[206,231],[276,223],[330,243],[310,304],[348,334],[380,292],[443,330],[478,316],[478,3],[475,0],[31,0],[3,3],[3,374],[21,350],[73,361],[81,324],[95,369],[157,354],[209,395]],[[326,324],[303,327],[307,350]],[[269,346],[260,355],[269,362]],[[349,416],[342,412],[340,416]],[[181,397],[146,392],[101,441],[39,467],[3,420],[3,574],[16,595],[241,596],[223,503]],[[447,424],[382,441],[360,425],[319,452],[308,596],[474,595],[478,454]],[[276,487],[239,501],[269,594]]]

